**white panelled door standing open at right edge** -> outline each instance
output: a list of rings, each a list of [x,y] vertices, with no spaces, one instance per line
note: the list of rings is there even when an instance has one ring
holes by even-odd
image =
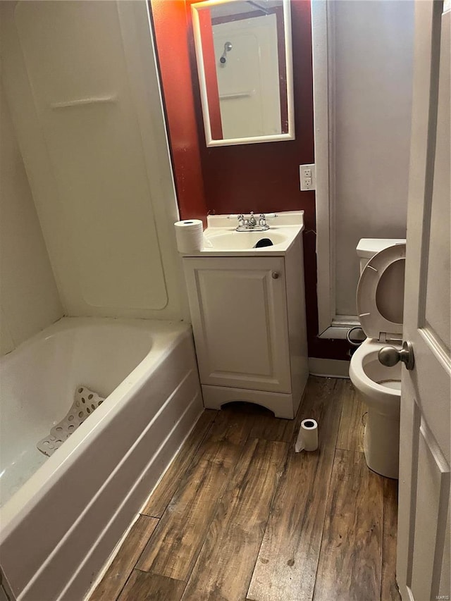
[[[407,217],[397,582],[450,599],[450,4],[417,1]]]

